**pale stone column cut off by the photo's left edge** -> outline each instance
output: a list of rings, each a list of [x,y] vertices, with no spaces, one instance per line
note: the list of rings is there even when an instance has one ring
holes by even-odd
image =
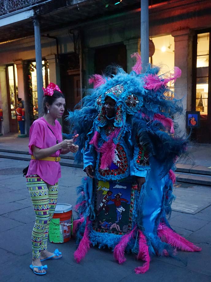
[[[0,66],[0,108],[3,111],[3,121],[0,122],[0,133],[6,134],[10,132],[6,85],[6,66]]]

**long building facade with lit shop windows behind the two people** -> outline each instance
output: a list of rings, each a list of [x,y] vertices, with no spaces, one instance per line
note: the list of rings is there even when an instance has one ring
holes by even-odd
[[[11,2],[20,3],[1,0],[0,9],[0,133],[18,132],[18,101],[25,108],[26,134],[40,114],[35,22],[41,34],[43,85],[58,84],[70,110],[89,87],[91,74],[102,73],[111,63],[129,72],[134,64],[130,55],[140,52],[139,0],[116,5],[110,0],[25,0],[16,7],[9,6]],[[180,132],[189,132],[186,111],[200,112],[200,127],[192,130],[192,137],[203,143],[211,143],[210,32],[210,1],[151,1],[149,37],[155,52],[149,62],[160,64],[162,73],[174,66],[182,70],[172,86],[184,108]]]

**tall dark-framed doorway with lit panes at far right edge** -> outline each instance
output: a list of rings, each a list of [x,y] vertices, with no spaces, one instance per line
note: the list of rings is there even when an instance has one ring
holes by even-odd
[[[211,32],[194,38],[192,110],[200,112],[200,127],[193,130],[199,143],[211,143]]]

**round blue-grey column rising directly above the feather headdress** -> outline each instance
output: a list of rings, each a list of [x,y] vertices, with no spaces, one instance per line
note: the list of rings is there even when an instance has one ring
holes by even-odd
[[[149,2],[141,0],[141,59],[142,73],[149,63]]]

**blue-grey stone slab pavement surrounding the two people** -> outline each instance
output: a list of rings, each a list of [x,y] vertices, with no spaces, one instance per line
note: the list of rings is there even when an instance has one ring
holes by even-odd
[[[0,137],[1,149],[27,151],[27,146],[28,138]],[[191,150],[196,164],[211,166],[210,145],[195,145]],[[22,176],[22,170],[26,165],[26,161],[0,158],[0,277],[2,282],[33,282],[40,279],[49,282],[211,281],[211,203],[207,200],[211,189],[206,186],[190,185],[183,185],[183,187],[178,185],[176,194],[177,191],[184,191],[182,195],[184,203],[188,200],[197,203],[203,192],[205,195],[203,198],[207,200],[205,206],[201,206],[195,214],[172,211],[170,224],[179,234],[200,246],[201,252],[178,252],[178,259],[154,257],[148,272],[136,275],[134,268],[141,266],[143,261],[137,261],[132,254],[128,254],[127,261],[123,265],[118,265],[113,259],[111,250],[101,250],[96,246],[91,247],[86,257],[77,264],[73,255],[76,242],[71,238],[69,242],[63,244],[49,243],[48,249],[54,251],[58,248],[62,251],[63,257],[59,260],[46,261],[47,274],[42,277],[36,276],[29,268],[34,211],[25,186],[25,178]],[[61,168],[58,203],[70,203],[74,206],[77,198],[75,187],[80,184],[85,173],[80,168],[65,166]],[[190,191],[189,194],[186,194],[185,192],[188,191]],[[177,199],[174,205],[177,205]],[[76,217],[76,214],[73,214]]]

